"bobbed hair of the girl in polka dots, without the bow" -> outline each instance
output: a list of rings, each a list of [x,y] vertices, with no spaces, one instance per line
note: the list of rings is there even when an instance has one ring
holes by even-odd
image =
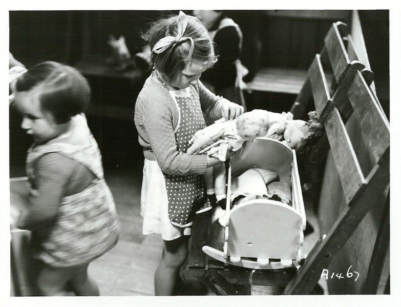
[[[188,24],[183,36],[192,37],[194,40],[192,59],[196,59],[202,63],[209,63],[207,68],[212,67],[216,63],[217,57],[215,56],[213,41],[210,39],[206,27],[197,17],[190,15],[186,15],[186,17]],[[142,34],[142,38],[150,45],[152,50],[161,38],[165,36],[177,36],[177,22],[177,15],[159,19],[151,25],[146,33]],[[160,54],[152,52],[152,63],[167,81],[170,82],[185,68],[187,64],[185,61],[190,48],[191,42],[187,39],[167,48]]]

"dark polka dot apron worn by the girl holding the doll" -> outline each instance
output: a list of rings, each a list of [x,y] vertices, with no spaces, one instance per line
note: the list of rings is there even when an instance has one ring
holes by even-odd
[[[177,148],[185,153],[188,140],[198,130],[206,127],[198,94],[187,88],[171,92],[175,96],[180,113],[180,122],[175,132]],[[176,226],[191,224],[194,214],[210,207],[201,175],[170,176],[164,174],[168,197],[168,217]]]

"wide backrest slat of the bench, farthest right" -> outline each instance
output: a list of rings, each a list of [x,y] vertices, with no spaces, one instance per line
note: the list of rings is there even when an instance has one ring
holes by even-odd
[[[348,97],[358,118],[367,148],[377,163],[390,146],[390,125],[361,72],[356,73],[348,90]]]

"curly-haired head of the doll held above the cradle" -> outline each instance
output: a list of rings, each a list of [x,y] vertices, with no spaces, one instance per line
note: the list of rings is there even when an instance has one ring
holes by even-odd
[[[309,120],[291,120],[284,132],[285,144],[298,155],[307,155],[323,131],[315,111],[309,112]]]

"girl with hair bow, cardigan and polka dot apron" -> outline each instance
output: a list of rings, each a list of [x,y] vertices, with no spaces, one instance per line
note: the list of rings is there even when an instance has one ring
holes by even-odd
[[[216,56],[198,18],[180,11],[178,16],[155,22],[143,38],[152,50],[154,68],[135,105],[145,158],[142,233],[161,234],[164,249],[155,273],[155,294],[172,295],[187,257],[193,217],[211,208],[202,175],[207,167],[224,167],[217,158],[187,154],[188,141],[206,127],[202,111],[215,120],[228,120],[244,110],[199,81]]]

